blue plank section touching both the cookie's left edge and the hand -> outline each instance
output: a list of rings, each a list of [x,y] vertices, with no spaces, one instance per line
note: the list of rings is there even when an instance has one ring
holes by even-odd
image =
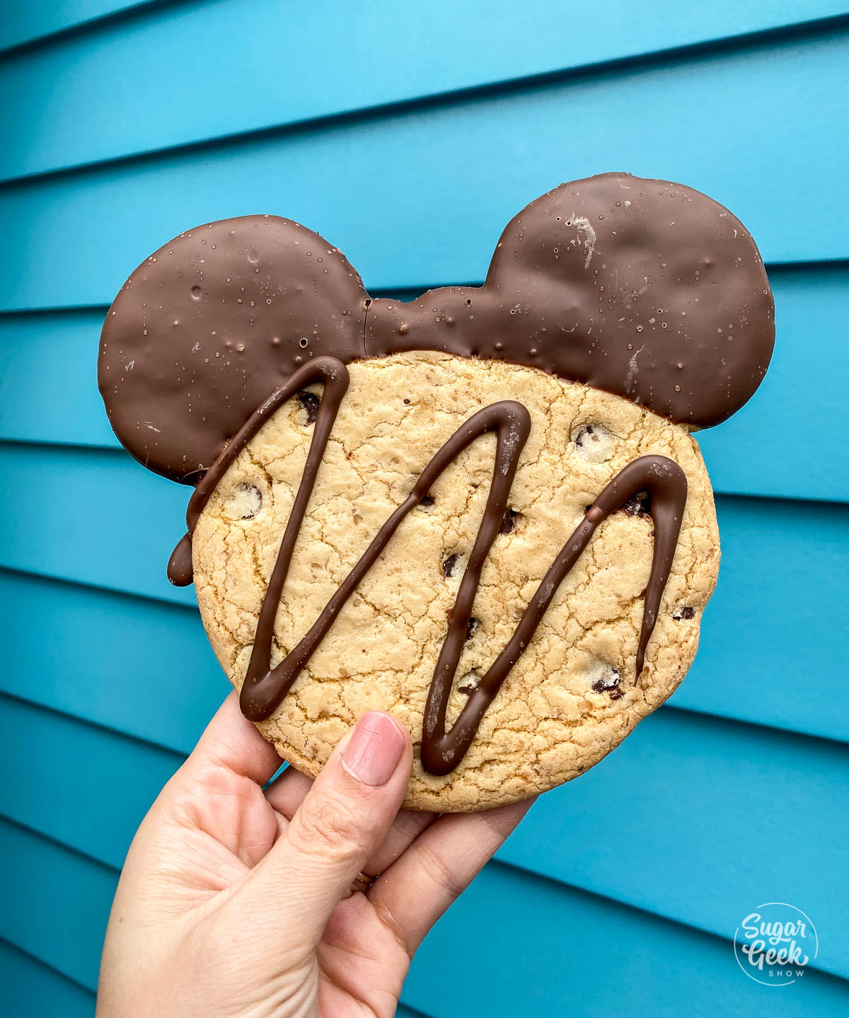
[[[2,570],[0,598],[12,696],[185,754],[230,691],[196,610]]]

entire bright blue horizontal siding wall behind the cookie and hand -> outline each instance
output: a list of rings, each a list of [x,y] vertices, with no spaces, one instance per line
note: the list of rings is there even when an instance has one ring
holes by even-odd
[[[126,847],[227,689],[191,591],[164,577],[186,493],[117,447],[95,387],[125,276],[187,226],[267,211],[322,230],[376,291],[477,282],[525,202],[628,169],[729,205],[776,293],[761,390],[699,437],[720,585],[681,690],[540,801],[426,941],[402,1013],[842,1014],[849,6],[14,6],[0,26],[0,1013],[92,1015]],[[746,979],[730,946],[776,899],[820,942],[782,991]]]

